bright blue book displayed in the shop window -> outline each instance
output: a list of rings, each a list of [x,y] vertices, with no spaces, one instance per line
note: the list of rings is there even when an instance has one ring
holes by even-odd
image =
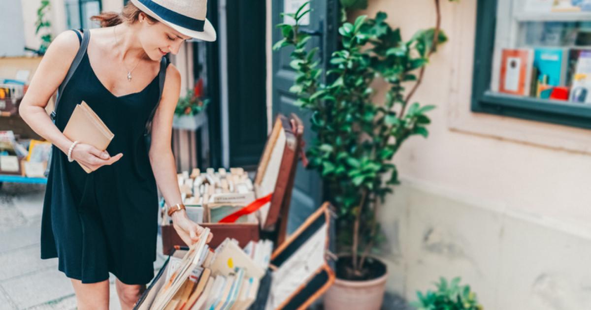
[[[552,86],[566,83],[568,53],[566,48],[535,48],[534,66],[538,69],[537,79]]]

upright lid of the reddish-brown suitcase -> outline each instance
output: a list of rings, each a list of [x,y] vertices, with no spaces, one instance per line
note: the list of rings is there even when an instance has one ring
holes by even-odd
[[[275,118],[254,180],[256,197],[273,193],[271,202],[259,211],[262,229],[271,229],[280,218],[287,218],[303,131],[303,123],[295,114]],[[278,236],[284,236],[286,228],[287,223],[281,223]]]

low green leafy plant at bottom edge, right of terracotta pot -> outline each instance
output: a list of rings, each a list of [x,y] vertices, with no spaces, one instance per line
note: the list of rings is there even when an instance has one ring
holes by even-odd
[[[417,291],[418,301],[411,302],[417,310],[482,310],[482,305],[476,301],[476,293],[470,291],[470,286],[460,285],[460,278],[447,281],[441,277],[439,283],[434,283],[437,291],[421,293]]]

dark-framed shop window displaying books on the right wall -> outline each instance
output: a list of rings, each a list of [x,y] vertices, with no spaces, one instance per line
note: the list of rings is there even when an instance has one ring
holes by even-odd
[[[591,0],[478,0],[476,27],[473,112],[591,128]]]

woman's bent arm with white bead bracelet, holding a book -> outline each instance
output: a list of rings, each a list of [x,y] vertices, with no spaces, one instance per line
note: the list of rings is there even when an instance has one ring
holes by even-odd
[[[37,135],[53,143],[66,154],[73,141],[64,136],[54,125],[45,107],[66,77],[79,48],[78,37],[73,31],[61,32],[47,48],[47,53],[41,59],[27,93],[22,97],[18,107],[21,118]],[[103,152],[86,143],[76,145],[72,151],[73,159],[82,162],[93,171],[102,165],[113,164],[121,156],[123,154],[119,153],[110,157],[106,151]]]

